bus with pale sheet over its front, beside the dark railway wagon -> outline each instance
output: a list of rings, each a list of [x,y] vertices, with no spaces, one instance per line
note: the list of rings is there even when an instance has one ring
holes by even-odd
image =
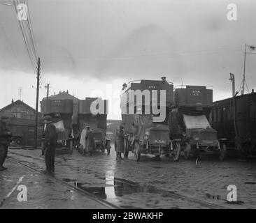
[[[169,118],[171,139],[180,139],[185,159],[207,153],[223,160],[225,145],[220,144],[217,131],[208,121],[213,90],[206,86],[180,86],[174,91],[174,100]]]

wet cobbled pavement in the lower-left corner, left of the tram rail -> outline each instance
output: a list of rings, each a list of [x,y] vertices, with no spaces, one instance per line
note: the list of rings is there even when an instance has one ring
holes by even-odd
[[[6,171],[0,172],[0,208],[106,208],[106,206],[71,190],[54,179],[38,174],[20,164],[6,160]],[[18,185],[26,185],[27,202],[19,202]],[[13,190],[14,188],[14,190]],[[13,191],[13,192],[12,192]],[[12,192],[11,194],[9,194]],[[10,196],[8,196],[10,195]]]

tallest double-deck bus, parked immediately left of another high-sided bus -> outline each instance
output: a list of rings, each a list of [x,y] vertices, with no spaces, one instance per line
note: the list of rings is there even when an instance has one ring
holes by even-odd
[[[142,153],[173,155],[179,160],[180,144],[170,140],[169,109],[173,105],[173,83],[161,80],[131,81],[121,94],[124,155],[132,151],[139,161]],[[159,109],[159,110],[157,110]]]

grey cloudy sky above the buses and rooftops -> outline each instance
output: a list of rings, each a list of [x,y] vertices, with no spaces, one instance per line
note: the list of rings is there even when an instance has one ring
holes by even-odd
[[[20,98],[35,107],[31,65],[13,6],[0,0],[0,107]],[[109,118],[120,118],[124,82],[160,79],[213,86],[213,98],[231,96],[229,72],[239,89],[244,45],[256,45],[255,0],[27,0],[41,57],[40,99],[69,90],[78,98],[110,99]],[[236,3],[237,20],[227,20]],[[248,54],[249,89],[256,89],[256,54]],[[106,93],[111,89],[112,93]]]

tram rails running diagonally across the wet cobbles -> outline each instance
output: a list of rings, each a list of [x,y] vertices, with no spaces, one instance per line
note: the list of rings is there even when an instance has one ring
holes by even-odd
[[[13,153],[13,154],[20,155],[19,153]],[[22,155],[20,155],[20,157],[22,157]],[[31,157],[31,158],[33,158],[33,157]],[[41,170],[38,170],[35,167],[31,167],[31,165],[26,164],[25,162],[27,162],[27,161],[16,160],[13,157],[8,157],[7,159],[10,160],[11,162],[16,162],[17,164],[22,164],[24,167],[27,167],[27,168],[29,168],[29,169],[31,169],[33,171],[36,171],[37,173],[43,174],[43,172]],[[100,197],[97,197],[92,192],[87,192],[87,191],[85,191],[85,190],[83,190],[83,189],[81,189],[79,187],[76,187],[75,185],[71,185],[70,183],[67,183],[66,181],[62,180],[61,178],[57,178],[57,176],[51,176],[51,175],[45,175],[45,176],[48,176],[48,178],[51,178],[51,179],[55,180],[58,183],[62,183],[64,185],[68,186],[69,188],[72,188],[73,190],[75,190],[76,192],[79,192],[80,194],[83,194],[83,195],[85,195],[87,197],[90,197],[94,201],[98,201],[99,203],[104,204],[108,208],[122,209],[122,207],[117,206],[117,205],[107,201],[106,199],[101,199]],[[120,183],[127,183],[126,180],[124,181],[121,178],[115,178],[115,180],[120,182]],[[136,184],[136,183],[133,183],[133,182],[130,183],[130,185],[134,185],[134,184]],[[227,207],[220,206],[218,204],[209,203],[209,202],[206,202],[206,201],[201,201],[199,199],[194,199],[194,198],[186,197],[184,195],[177,194],[177,193],[171,192],[171,191],[166,191],[166,190],[161,190],[161,189],[157,189],[155,191],[158,194],[162,194],[164,197],[170,197],[170,198],[173,198],[173,199],[180,199],[180,200],[183,200],[183,201],[187,201],[189,203],[199,204],[202,208],[228,209]]]

